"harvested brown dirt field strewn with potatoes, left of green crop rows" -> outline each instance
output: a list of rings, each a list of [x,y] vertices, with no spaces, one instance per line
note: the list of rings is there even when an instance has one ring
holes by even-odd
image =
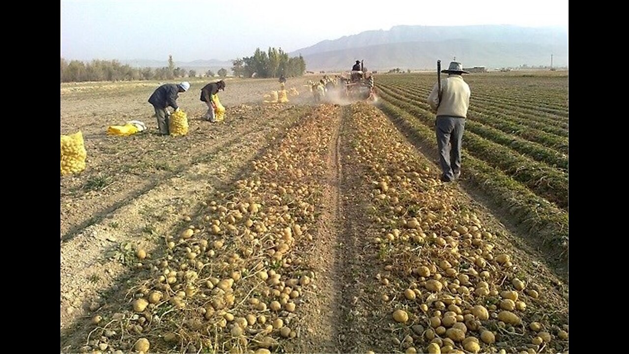
[[[565,279],[377,106],[313,105],[309,79],[284,104],[228,79],[216,124],[191,81],[184,137],[156,134],[159,83],[62,84],[87,168],[60,180],[60,350],[567,352]],[[128,120],[149,129],[105,134]]]

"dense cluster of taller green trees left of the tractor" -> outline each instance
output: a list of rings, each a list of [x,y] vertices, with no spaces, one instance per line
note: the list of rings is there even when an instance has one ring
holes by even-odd
[[[233,60],[234,76],[239,77],[294,77],[306,71],[306,61],[299,57],[289,58],[282,49],[270,48],[268,52],[255,50],[252,57]]]

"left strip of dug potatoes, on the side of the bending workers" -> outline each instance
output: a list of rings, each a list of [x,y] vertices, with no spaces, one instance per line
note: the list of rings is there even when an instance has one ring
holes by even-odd
[[[287,132],[233,188],[167,232],[161,251],[137,249],[148,277],[124,311],[96,314],[102,327],[81,351],[270,353],[296,338],[316,275],[295,251],[319,222],[333,115],[321,109]]]

